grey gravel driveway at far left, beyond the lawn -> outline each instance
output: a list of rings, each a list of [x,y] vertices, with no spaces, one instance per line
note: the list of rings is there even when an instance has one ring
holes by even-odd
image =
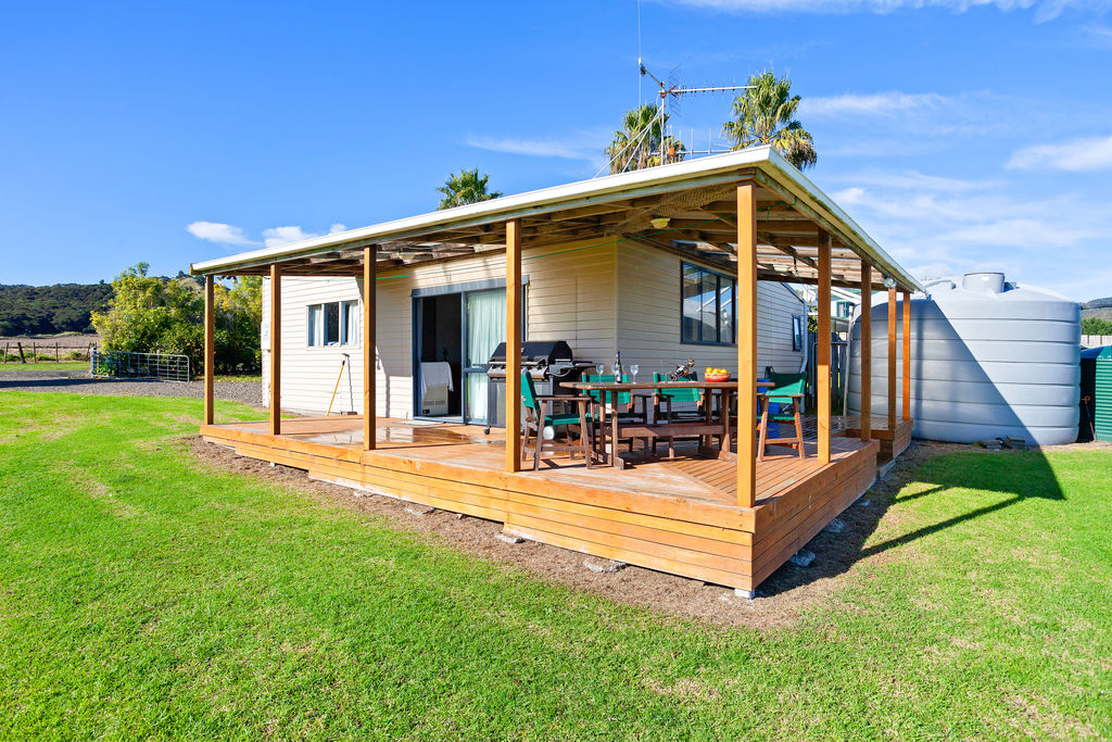
[[[0,370],[0,392],[69,392],[200,398],[205,393],[205,384],[90,378],[87,370]],[[251,407],[259,407],[262,404],[262,385],[259,382],[217,382],[215,393],[217,399],[241,402]]]

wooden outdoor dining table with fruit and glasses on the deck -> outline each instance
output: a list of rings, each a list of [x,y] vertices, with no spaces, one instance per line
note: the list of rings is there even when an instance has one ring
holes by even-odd
[[[667,438],[677,436],[697,435],[702,439],[701,448],[708,451],[711,439],[721,436],[722,446],[719,455],[729,455],[731,449],[731,426],[729,409],[732,402],[737,394],[737,382],[564,382],[562,386],[579,392],[597,392],[599,398],[598,431],[599,441],[595,446],[595,457],[608,463],[616,468],[625,468],[626,462],[617,453],[618,441],[622,438],[642,438],[645,443],[645,457],[648,457],[648,441],[655,437]],[[757,382],[757,388],[768,388],[773,384],[768,382]],[[645,408],[645,421],[638,423],[623,422],[617,410],[617,399],[619,394],[636,394],[639,390],[652,392],[655,389],[704,389],[708,394],[705,405],[705,418],[703,421],[683,421],[676,423],[661,423],[655,418],[649,422],[648,408]],[[722,414],[715,421],[713,416],[714,405],[709,395],[718,393],[718,409]],[[607,405],[613,409],[613,414],[607,421]],[[607,426],[607,423],[609,425]],[[609,431],[607,431],[609,427]],[[607,433],[609,435],[607,435]],[[609,438],[609,449],[607,451],[607,438]]]

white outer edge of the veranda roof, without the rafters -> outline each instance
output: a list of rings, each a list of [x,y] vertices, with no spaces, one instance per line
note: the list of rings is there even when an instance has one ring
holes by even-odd
[[[461,226],[465,222],[476,224],[512,219],[529,214],[543,214],[566,207],[572,201],[613,199],[615,196],[634,190],[639,191],[638,195],[647,195],[643,191],[651,192],[654,187],[671,186],[677,181],[693,181],[692,185],[727,182],[735,177],[736,170],[747,167],[759,169],[775,184],[791,191],[794,198],[802,200],[820,216],[830,219],[835,229],[842,231],[845,237],[851,238],[857,247],[873,257],[876,267],[896,276],[900,283],[923,290],[920,283],[885,253],[833,199],[820,190],[772,147],[755,147],[737,152],[503,196],[488,201],[384,221],[279,247],[268,247],[225,258],[203,260],[190,265],[189,271],[192,275],[219,274],[221,270],[329,251],[350,243],[404,239],[407,236],[420,234],[423,230],[446,229]]]

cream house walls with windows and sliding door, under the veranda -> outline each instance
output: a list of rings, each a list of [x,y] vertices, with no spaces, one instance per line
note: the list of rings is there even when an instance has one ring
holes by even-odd
[[[620,350],[627,366],[638,365],[642,379],[652,379],[654,372],[671,372],[688,358],[696,360],[697,368],[736,372],[736,269],[724,264],[721,255],[617,239],[603,245],[588,240],[586,245],[526,248],[523,260],[527,340],[564,340],[577,359],[607,367]],[[381,281],[377,397],[383,415],[502,426],[500,417],[487,414],[486,362],[503,339],[503,261],[493,253],[478,254],[443,265],[418,265],[396,280]],[[714,290],[699,290],[712,281]],[[270,310],[269,289],[269,279],[264,279],[264,316]],[[758,281],[757,293],[758,368],[800,370],[805,303],[780,281]],[[363,395],[354,393],[363,388],[363,367],[358,363],[341,366],[345,358],[361,353],[361,300],[359,280],[354,277],[284,280],[282,409],[302,415],[322,415],[329,408],[363,414]],[[711,303],[715,305],[709,309],[713,320],[725,329],[703,324]],[[607,320],[615,316],[617,321]],[[265,400],[270,382],[268,327],[264,323]],[[478,337],[489,328],[497,329]],[[450,385],[430,387],[421,378],[421,369],[430,364],[447,364]],[[433,389],[445,392],[443,404],[438,404],[440,397],[433,399]]]

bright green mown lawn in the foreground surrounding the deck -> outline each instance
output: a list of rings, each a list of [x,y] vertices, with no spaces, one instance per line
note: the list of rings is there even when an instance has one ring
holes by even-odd
[[[0,393],[0,736],[1112,735],[1106,454],[927,461],[846,585],[757,631],[207,468],[199,414]]]

